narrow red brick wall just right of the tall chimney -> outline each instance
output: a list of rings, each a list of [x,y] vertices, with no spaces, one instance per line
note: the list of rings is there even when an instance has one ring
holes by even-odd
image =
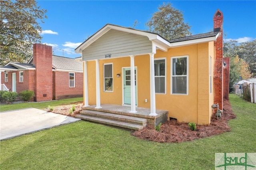
[[[228,100],[230,58],[223,58],[223,62],[225,63],[225,66],[223,68],[223,98]]]

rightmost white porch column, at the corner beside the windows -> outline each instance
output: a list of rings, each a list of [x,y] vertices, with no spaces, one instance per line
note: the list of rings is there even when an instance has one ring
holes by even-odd
[[[156,116],[154,53],[150,53],[150,116]]]

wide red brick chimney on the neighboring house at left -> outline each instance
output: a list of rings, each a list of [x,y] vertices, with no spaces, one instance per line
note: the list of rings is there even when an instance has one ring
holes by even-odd
[[[52,47],[36,43],[33,45],[36,101],[52,100]]]

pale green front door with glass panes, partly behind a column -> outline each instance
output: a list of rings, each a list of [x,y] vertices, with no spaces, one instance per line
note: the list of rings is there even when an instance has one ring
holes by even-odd
[[[135,103],[137,105],[137,69],[135,68]],[[123,76],[123,83],[124,83],[124,104],[131,104],[131,69],[124,68],[124,76]]]

